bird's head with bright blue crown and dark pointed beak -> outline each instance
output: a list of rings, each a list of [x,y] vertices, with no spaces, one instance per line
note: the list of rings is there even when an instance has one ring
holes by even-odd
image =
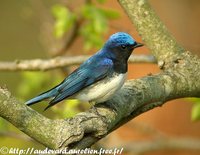
[[[129,34],[117,32],[110,36],[103,50],[112,59],[127,61],[132,51],[141,46],[143,44],[137,43]]]

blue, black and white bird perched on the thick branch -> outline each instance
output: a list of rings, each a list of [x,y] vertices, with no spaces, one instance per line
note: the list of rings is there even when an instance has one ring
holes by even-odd
[[[28,100],[30,106],[50,99],[48,109],[65,99],[102,103],[123,86],[128,70],[128,58],[135,48],[143,46],[126,32],[112,34],[103,47],[83,62],[60,84]]]

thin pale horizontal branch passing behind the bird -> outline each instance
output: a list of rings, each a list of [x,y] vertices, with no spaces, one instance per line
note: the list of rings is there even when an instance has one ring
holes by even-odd
[[[36,71],[51,70],[72,65],[79,65],[88,59],[88,55],[56,57],[52,59],[16,60],[15,62],[0,62],[0,71]],[[152,55],[134,55],[130,63],[156,63]]]

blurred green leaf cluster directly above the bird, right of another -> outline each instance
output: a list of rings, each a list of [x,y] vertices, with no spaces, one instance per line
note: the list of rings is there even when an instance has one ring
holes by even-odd
[[[118,18],[117,12],[97,8],[94,5],[84,5],[82,16],[86,22],[81,27],[80,34],[84,37],[85,49],[100,48],[103,45],[102,35],[108,32],[108,20]]]

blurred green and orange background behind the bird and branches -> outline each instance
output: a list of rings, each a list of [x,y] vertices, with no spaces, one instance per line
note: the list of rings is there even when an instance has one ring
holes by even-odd
[[[188,50],[199,54],[200,2],[197,0],[151,0],[152,6],[170,32]],[[141,41],[134,26],[117,1],[108,0],[1,0],[0,60],[50,58],[57,55],[93,54],[116,31],[126,31]],[[137,54],[148,54],[146,47]],[[59,83],[77,66],[48,72],[0,72],[0,85],[8,87],[19,100],[26,101]],[[154,64],[129,65],[130,79],[157,73]],[[52,77],[52,78],[50,78]],[[32,108],[52,118],[66,118],[90,107],[77,100],[64,101],[43,112],[46,102]],[[152,139],[157,132],[167,136],[200,138],[200,99],[180,99],[156,108],[124,125],[95,147]],[[145,132],[144,132],[144,129]],[[106,142],[106,146],[103,143]],[[0,119],[0,146],[44,148],[18,129]],[[152,154],[197,154],[165,151]],[[128,154],[128,152],[127,152]],[[129,153],[131,154],[131,153]],[[151,154],[151,153],[148,153]]]

